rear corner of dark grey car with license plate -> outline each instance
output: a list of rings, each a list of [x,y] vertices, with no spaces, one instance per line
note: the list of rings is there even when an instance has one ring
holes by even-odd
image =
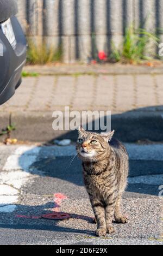
[[[17,14],[15,0],[0,1],[0,105],[14,95],[21,84],[27,43]]]

